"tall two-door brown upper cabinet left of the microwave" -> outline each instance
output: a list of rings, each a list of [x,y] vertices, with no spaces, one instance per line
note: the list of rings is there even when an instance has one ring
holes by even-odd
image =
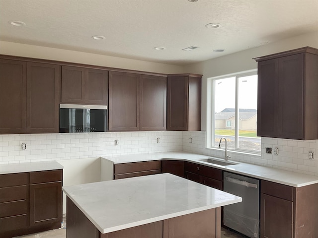
[[[59,65],[0,60],[0,133],[59,132],[60,80]]]

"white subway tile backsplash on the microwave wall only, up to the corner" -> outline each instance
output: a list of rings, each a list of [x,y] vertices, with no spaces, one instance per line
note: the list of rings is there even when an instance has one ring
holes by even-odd
[[[182,131],[0,135],[0,164],[181,150]]]

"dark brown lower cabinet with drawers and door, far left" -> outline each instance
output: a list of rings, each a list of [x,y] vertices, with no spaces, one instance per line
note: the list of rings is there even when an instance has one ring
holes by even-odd
[[[0,175],[0,238],[61,227],[62,170]]]

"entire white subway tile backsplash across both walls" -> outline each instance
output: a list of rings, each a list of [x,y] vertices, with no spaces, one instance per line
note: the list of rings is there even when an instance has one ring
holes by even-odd
[[[160,143],[157,143],[157,138]],[[190,143],[189,138],[192,138]],[[207,149],[205,131],[95,132],[0,135],[0,164],[68,160],[99,156],[187,151],[224,156],[224,149]],[[115,140],[119,145],[115,145]],[[27,144],[27,150],[21,144]],[[279,154],[265,154],[265,147]],[[261,156],[229,152],[232,160],[318,176],[318,140],[262,138]],[[308,159],[314,151],[315,159]]]

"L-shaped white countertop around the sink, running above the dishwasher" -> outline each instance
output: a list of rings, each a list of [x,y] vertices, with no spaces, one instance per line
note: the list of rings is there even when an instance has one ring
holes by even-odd
[[[123,155],[106,159],[114,164],[130,163],[130,162],[142,162],[151,160],[182,160],[205,165],[223,171],[232,172],[239,175],[245,175],[256,179],[264,179],[267,181],[277,182],[293,187],[302,187],[311,184],[318,183],[318,177],[312,175],[305,175],[285,170],[273,169],[269,167],[247,164],[242,162],[233,161],[239,163],[237,165],[220,166],[202,162],[200,159],[214,158],[207,155],[193,154],[188,152],[165,152],[165,153],[151,153],[151,154],[139,154],[139,155]],[[219,158],[220,159],[220,158]],[[221,159],[223,160],[223,159]]]

